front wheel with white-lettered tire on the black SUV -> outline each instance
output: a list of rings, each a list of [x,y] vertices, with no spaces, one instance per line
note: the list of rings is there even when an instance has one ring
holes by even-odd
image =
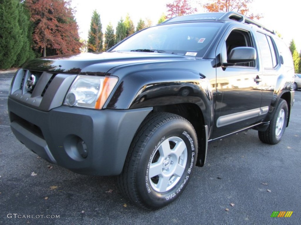
[[[172,113],[151,113],[132,141],[118,187],[142,208],[161,208],[183,192],[196,159],[197,135],[191,123]]]

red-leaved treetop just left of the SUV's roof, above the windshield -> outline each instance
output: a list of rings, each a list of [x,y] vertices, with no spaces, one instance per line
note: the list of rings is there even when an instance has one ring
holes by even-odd
[[[168,12],[167,19],[197,12],[197,8],[191,7],[189,0],[174,0],[172,3],[166,4],[166,7]]]

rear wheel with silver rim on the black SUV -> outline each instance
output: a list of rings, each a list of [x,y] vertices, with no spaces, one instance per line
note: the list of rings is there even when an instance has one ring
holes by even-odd
[[[287,102],[279,100],[275,113],[266,131],[258,131],[258,137],[263,143],[275,145],[281,141],[288,118]]]

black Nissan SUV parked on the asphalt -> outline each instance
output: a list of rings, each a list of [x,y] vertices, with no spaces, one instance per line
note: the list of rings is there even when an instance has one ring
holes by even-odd
[[[247,129],[276,144],[288,126],[293,61],[272,30],[235,12],[180,16],[101,54],[33,59],[8,98],[27,148],[76,173],[118,175],[144,208],[175,200],[207,144]]]

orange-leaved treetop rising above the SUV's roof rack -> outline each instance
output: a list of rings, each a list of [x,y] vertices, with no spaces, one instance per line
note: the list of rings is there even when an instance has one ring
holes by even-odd
[[[235,11],[248,16],[250,19],[260,19],[260,14],[249,14],[249,5],[252,4],[253,0],[212,0],[210,3],[204,4],[204,8],[208,12],[230,12]]]

